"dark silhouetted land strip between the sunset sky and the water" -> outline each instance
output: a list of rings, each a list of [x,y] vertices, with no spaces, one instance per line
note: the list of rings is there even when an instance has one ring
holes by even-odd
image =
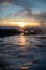
[[[11,26],[3,26],[0,27],[0,37],[5,36],[15,36],[15,34],[43,34],[42,28],[40,27],[25,27],[21,29],[20,27],[11,27]]]

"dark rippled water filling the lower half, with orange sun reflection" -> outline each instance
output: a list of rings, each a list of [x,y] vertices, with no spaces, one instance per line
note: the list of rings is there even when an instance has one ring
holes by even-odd
[[[0,70],[46,70],[46,37],[0,37]]]

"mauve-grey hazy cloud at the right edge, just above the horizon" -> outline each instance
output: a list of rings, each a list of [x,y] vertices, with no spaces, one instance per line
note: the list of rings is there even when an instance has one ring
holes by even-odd
[[[40,12],[33,14],[33,18],[37,19],[42,27],[46,27],[46,12]]]

